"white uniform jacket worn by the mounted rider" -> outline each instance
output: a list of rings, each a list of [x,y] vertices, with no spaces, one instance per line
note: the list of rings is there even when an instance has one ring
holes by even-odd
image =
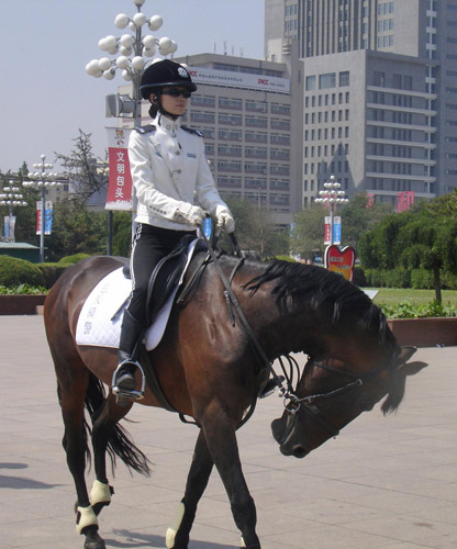
[[[214,214],[226,208],[215,188],[199,132],[158,114],[153,124],[131,132],[129,159],[137,198],[135,221],[175,231],[194,229],[176,215],[198,202]]]

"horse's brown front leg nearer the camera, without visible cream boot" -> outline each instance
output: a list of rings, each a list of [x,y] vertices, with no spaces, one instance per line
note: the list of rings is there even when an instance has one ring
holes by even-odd
[[[257,514],[239,460],[235,426],[224,406],[212,407],[202,421],[210,455],[228,495],[233,518],[242,533],[242,548],[260,549],[256,534]]]

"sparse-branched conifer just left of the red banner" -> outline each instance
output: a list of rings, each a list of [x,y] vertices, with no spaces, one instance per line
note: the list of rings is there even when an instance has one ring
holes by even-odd
[[[87,134],[79,130],[78,137],[75,137],[75,148],[69,155],[55,153],[56,161],[60,161],[66,169],[68,177],[75,182],[75,200],[86,203],[92,194],[102,191],[107,184],[107,178],[98,173],[97,163],[105,164],[92,154],[92,134]]]

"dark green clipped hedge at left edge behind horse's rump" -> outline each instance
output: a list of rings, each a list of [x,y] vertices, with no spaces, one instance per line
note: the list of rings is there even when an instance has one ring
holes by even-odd
[[[85,257],[89,256],[76,254],[64,257],[56,264],[32,264],[16,257],[0,256],[0,285],[13,288],[30,284],[49,289],[65,269]]]

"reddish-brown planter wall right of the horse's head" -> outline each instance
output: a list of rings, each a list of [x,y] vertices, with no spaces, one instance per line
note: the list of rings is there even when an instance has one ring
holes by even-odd
[[[390,318],[388,324],[399,345],[457,346],[457,317]]]

